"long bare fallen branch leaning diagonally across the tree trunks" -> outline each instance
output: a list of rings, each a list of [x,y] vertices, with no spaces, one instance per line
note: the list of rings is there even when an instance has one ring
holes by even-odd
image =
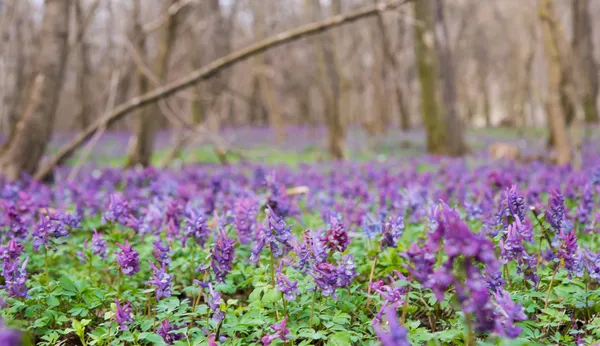
[[[77,150],[83,142],[94,135],[99,128],[104,126],[110,126],[115,121],[123,118],[125,115],[132,111],[146,106],[148,104],[159,101],[165,97],[171,96],[176,92],[190,87],[199,81],[206,80],[221,70],[233,66],[234,64],[248,59],[256,54],[260,54],[268,49],[281,46],[285,43],[296,41],[303,37],[312,36],[319,34],[328,29],[341,26],[346,23],[351,23],[362,18],[370,17],[380,13],[382,11],[391,10],[402,4],[408,3],[411,0],[391,0],[379,3],[375,6],[368,6],[348,14],[341,14],[330,17],[320,22],[311,23],[300,26],[296,29],[282,32],[280,34],[269,37],[265,40],[261,40],[255,44],[252,44],[246,48],[235,51],[228,54],[220,59],[213,61],[212,63],[201,67],[198,70],[191,72],[187,77],[175,80],[171,83],[165,84],[162,87],[156,88],[146,94],[134,97],[129,101],[117,106],[112,111],[106,113],[98,121],[88,126],[85,130],[80,132],[71,142],[64,145],[58,150],[58,152],[48,160],[48,162],[42,166],[35,174],[34,178],[42,180],[49,175],[54,168],[61,162],[63,157],[70,155],[72,152]]]

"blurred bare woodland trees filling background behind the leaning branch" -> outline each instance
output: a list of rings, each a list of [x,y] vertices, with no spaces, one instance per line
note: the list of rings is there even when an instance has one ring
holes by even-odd
[[[230,52],[377,3],[1,0],[0,171],[33,173],[52,130],[79,131]],[[567,163],[570,130],[598,121],[598,22],[590,0],[414,0],[265,51],[108,130],[129,131],[129,165],[147,165],[157,131],[189,124],[269,126],[280,142],[324,126],[336,159],[357,127],[424,128],[429,152],[449,155],[467,152],[465,129],[540,127]]]

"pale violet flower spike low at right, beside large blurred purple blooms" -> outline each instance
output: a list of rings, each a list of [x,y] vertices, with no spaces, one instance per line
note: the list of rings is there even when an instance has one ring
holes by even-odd
[[[515,304],[506,291],[493,294],[496,299],[495,332],[511,339],[518,337],[521,334],[521,328],[515,326],[514,323],[527,319],[523,306],[521,303]]]

